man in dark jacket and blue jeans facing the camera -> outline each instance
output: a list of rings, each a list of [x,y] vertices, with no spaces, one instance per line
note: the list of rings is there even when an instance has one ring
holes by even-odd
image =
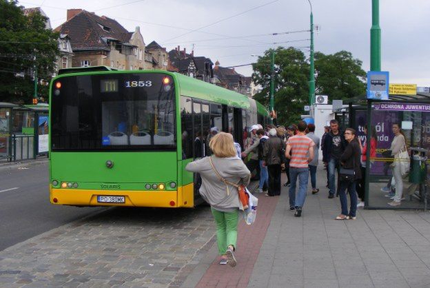
[[[329,172],[329,198],[334,198],[336,190],[335,184],[335,170],[340,169],[340,156],[347,147],[345,136],[339,130],[339,123],[333,119],[330,121],[331,132],[324,138],[323,144],[323,162],[327,165]],[[339,185],[337,185],[339,187]]]

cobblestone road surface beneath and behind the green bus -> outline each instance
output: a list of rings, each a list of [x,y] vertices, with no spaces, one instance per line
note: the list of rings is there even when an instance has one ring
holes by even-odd
[[[0,252],[1,287],[178,287],[214,243],[209,207],[112,208]]]

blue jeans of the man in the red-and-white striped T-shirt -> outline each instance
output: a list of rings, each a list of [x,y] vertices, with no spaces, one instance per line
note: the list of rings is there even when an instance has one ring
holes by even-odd
[[[296,197],[296,185],[298,178],[298,193]],[[289,167],[289,206],[303,207],[307,192],[307,179],[309,178],[308,168]]]

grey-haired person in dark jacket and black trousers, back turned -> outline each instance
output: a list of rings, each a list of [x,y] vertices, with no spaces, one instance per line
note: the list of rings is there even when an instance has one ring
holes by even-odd
[[[269,130],[269,140],[263,147],[265,165],[269,170],[269,192],[266,196],[280,195],[280,165],[282,154],[285,151],[285,143],[276,136],[276,129]]]

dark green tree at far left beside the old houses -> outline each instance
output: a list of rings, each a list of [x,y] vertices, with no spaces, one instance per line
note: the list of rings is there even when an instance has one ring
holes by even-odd
[[[59,34],[39,12],[25,16],[17,1],[0,0],[0,101],[32,103],[34,74],[49,83],[59,55]],[[39,85],[38,96],[47,96]]]

